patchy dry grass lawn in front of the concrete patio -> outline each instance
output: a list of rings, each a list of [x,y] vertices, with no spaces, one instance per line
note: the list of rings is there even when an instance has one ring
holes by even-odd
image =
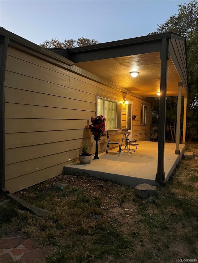
[[[64,190],[52,188],[56,181]],[[54,247],[47,263],[197,259],[197,160],[181,160],[166,187],[146,200],[132,187],[87,175],[59,175],[16,195],[49,217],[19,213],[9,202],[0,207],[0,234],[9,227]]]

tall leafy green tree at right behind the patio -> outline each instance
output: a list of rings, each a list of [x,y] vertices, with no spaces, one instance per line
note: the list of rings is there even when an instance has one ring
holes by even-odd
[[[187,98],[187,138],[192,139],[192,136],[197,134],[197,16],[198,4],[195,0],[188,4],[180,4],[179,12],[163,24],[158,25],[156,31],[151,34],[159,34],[165,32],[174,32],[186,38],[186,53],[187,53],[187,75],[188,75],[188,98]],[[153,103],[156,104],[153,99]],[[171,135],[172,140],[175,140],[175,122],[176,122],[176,107],[177,97],[168,97],[166,105],[166,139]],[[183,110],[183,105],[182,105]],[[156,112],[157,114],[157,112]],[[155,115],[155,112],[154,112]],[[183,119],[181,119],[181,125]],[[169,134],[170,133],[170,134]]]

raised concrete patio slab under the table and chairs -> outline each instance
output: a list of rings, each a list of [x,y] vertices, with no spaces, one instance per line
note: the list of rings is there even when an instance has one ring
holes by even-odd
[[[186,146],[179,145],[180,154],[174,154],[176,145],[165,143],[164,172],[166,181],[169,179],[174,168],[177,166]],[[131,149],[136,149],[135,146]],[[90,164],[80,164],[75,162],[64,166],[64,173],[83,174],[108,179],[125,185],[136,187],[140,183],[148,183],[159,187],[155,181],[157,172],[157,152],[158,143],[148,141],[138,141],[137,150],[129,153],[122,151],[121,156],[117,152],[118,148],[110,150],[107,155],[99,154],[98,160],[92,160]]]

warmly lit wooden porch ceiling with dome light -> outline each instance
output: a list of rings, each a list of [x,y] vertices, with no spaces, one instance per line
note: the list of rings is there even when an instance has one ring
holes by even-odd
[[[160,52],[85,61],[75,65],[141,97],[157,97],[160,90]],[[133,78],[129,74],[131,71],[140,73]],[[171,57],[167,73],[167,96],[177,96],[178,82],[182,80]],[[184,87],[182,95],[186,95]]]

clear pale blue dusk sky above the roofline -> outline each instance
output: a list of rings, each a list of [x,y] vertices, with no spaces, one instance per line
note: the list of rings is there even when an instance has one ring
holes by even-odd
[[[148,35],[178,12],[176,0],[0,1],[0,26],[33,43],[97,39],[100,43]]]

